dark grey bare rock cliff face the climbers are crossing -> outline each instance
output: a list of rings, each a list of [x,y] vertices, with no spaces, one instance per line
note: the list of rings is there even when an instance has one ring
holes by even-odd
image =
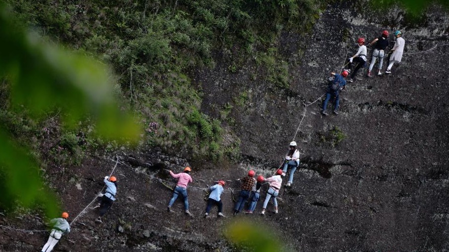
[[[194,78],[202,84],[203,111],[219,116],[220,108],[234,105],[230,116],[235,122],[228,127],[242,140],[242,162],[189,163],[157,150],[117,153],[123,161],[115,173],[118,200],[101,224],[94,223],[95,210],[88,209],[56,251],[238,251],[222,231],[228,222],[243,218],[271,226],[292,251],[448,251],[449,15],[434,8],[422,26],[411,26],[400,13],[392,9],[364,17],[329,6],[310,36],[283,34],[278,50],[289,61],[288,91],[254,80],[249,74],[255,71],[252,60],[230,73],[217,54],[217,66],[198,69]],[[371,41],[385,29],[403,32],[402,63],[390,75],[367,78],[366,69],[360,71],[341,93],[340,114],[323,117],[322,100],[308,102],[325,93],[329,73],[340,72],[346,55],[356,52],[357,37]],[[393,36],[389,39],[391,48]],[[243,92],[245,102],[238,106],[234,97]],[[307,110],[304,104],[310,104]],[[233,217],[229,189],[240,188],[234,180],[248,167],[264,176],[273,174],[298,126],[294,140],[302,165],[293,186],[280,191],[279,214]],[[48,171],[71,218],[103,187],[102,177],[115,164],[112,159],[86,158],[65,173]],[[195,183],[188,193],[194,218],[184,216],[179,200],[175,212],[167,213],[172,193],[155,179],[173,186],[164,169],[180,171],[185,165],[193,167]],[[202,188],[218,179],[234,181],[223,194],[228,217],[204,219]],[[33,216],[3,218],[0,224],[42,229]],[[1,251],[36,251],[47,233],[3,229],[0,238]]]

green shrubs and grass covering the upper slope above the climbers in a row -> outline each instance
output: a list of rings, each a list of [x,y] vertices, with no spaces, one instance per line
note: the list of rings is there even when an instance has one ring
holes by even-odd
[[[278,54],[276,41],[282,30],[310,29],[323,1],[6,2],[24,26],[112,65],[119,76],[115,94],[125,97],[150,129],[145,130],[144,143],[217,158],[230,153],[220,150],[236,149],[235,142],[221,146],[222,120],[230,126],[236,122],[228,117],[229,108],[220,118],[200,111],[201,88],[189,77],[191,69],[213,67],[213,51],[228,52],[224,60],[230,72],[254,59],[262,69],[252,73],[254,79],[262,73],[258,79],[288,88],[288,64]],[[235,104],[244,106],[246,101],[243,92]],[[62,139],[72,154],[77,147],[69,136],[76,134]]]

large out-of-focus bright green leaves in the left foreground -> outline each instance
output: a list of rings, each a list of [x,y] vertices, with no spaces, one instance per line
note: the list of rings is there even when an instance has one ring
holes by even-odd
[[[25,2],[18,5],[28,6]],[[66,24],[69,15],[52,13],[42,15]],[[30,157],[34,151],[20,147],[10,134],[35,134],[34,122],[55,107],[69,128],[75,128],[90,114],[95,131],[105,139],[136,141],[139,126],[133,115],[118,108],[110,85],[112,75],[102,63],[45,42],[16,24],[1,4],[0,76],[2,89],[7,90],[7,95],[2,96],[7,101],[1,100],[1,105],[8,111],[1,113],[0,124],[0,207],[40,206],[48,216],[55,216],[58,206],[40,180],[37,160]],[[66,25],[59,26],[58,31],[65,31]],[[61,140],[70,151],[76,150],[73,135],[67,134]]]

